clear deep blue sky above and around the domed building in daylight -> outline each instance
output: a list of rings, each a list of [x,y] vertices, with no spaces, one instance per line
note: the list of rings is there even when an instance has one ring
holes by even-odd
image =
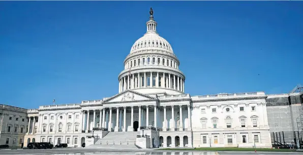
[[[303,84],[303,3],[0,2],[0,103],[80,103],[118,92],[117,76],[153,7],[193,95]]]

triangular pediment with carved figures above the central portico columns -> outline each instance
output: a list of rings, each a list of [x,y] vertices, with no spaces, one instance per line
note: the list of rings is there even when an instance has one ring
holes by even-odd
[[[141,94],[132,90],[125,90],[120,92],[119,94],[108,98],[103,101],[104,102],[131,102],[131,101],[146,101],[146,100],[157,100],[157,98],[150,97],[148,95]]]

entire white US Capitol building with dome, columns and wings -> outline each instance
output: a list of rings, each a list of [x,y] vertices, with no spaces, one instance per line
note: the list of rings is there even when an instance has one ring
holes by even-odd
[[[271,147],[264,92],[191,96],[153,10],[146,33],[118,75],[118,94],[77,104],[23,109],[0,105],[0,145],[67,143],[70,147]],[[138,141],[137,141],[138,142]],[[144,141],[145,142],[145,141]],[[150,145],[150,146],[149,146]]]

